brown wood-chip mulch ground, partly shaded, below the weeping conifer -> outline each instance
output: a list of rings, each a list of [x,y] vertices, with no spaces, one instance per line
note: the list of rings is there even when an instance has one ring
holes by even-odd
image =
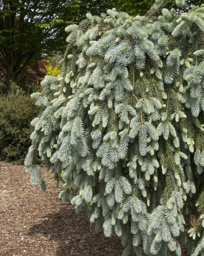
[[[30,184],[23,165],[0,162],[0,255],[121,255],[120,238],[90,228],[86,210],[76,214],[59,199],[63,187],[56,189],[52,174],[41,169],[45,192]]]

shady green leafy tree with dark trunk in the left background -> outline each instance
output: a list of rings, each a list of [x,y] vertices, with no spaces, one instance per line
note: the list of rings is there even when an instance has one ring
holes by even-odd
[[[85,18],[87,10],[103,11],[99,1],[0,0],[0,79],[20,84],[23,72],[45,56],[62,52],[64,28]]]

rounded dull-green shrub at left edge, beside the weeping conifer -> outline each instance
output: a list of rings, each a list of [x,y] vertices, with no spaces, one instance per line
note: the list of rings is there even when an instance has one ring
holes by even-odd
[[[22,164],[30,144],[31,120],[39,113],[34,101],[12,84],[0,95],[0,160]]]

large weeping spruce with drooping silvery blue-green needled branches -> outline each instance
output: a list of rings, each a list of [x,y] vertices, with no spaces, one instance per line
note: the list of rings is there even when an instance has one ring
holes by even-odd
[[[190,240],[189,255],[204,252],[204,192],[195,186],[204,168],[204,6],[156,15],[166,2],[146,16],[113,9],[67,27],[61,76],[32,95],[43,111],[32,121],[27,172],[38,154],[54,166],[60,198],[86,207],[96,231],[103,224],[105,236],[121,237],[123,255],[180,256]]]

